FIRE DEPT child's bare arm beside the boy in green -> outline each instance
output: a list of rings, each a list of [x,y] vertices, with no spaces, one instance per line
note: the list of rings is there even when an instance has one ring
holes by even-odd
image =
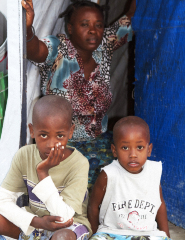
[[[99,206],[103,201],[106,192],[106,187],[107,187],[107,174],[102,170],[94,184],[87,209],[87,216],[91,224],[93,233],[95,233],[98,229],[100,211]]]

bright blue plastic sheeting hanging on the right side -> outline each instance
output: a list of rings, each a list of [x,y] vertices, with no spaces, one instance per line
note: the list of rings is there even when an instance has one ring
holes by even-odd
[[[162,161],[168,218],[185,228],[185,1],[137,1],[135,113]]]

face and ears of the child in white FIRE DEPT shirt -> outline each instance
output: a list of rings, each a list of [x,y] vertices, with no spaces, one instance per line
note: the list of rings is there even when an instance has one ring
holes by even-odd
[[[149,136],[144,127],[123,126],[111,149],[120,165],[128,172],[136,174],[142,171],[147,157],[150,157],[152,144],[149,144]]]

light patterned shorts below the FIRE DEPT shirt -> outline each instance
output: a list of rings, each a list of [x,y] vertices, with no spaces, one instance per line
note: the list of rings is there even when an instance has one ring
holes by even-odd
[[[171,240],[168,237],[156,236],[123,236],[116,234],[107,234],[103,232],[95,233],[90,240]]]

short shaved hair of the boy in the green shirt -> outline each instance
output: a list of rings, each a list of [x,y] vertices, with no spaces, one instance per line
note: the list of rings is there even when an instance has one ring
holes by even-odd
[[[32,122],[36,124],[39,118],[44,116],[62,115],[69,125],[72,123],[73,109],[65,98],[58,95],[47,95],[40,98],[33,107]]]

